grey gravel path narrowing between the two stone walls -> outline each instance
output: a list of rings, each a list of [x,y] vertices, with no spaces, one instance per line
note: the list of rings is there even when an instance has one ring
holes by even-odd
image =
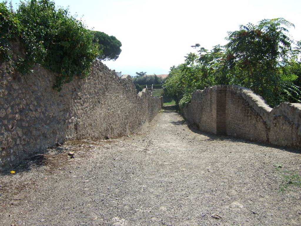
[[[165,108],[132,136],[69,141],[0,175],[0,225],[301,225],[300,160]]]

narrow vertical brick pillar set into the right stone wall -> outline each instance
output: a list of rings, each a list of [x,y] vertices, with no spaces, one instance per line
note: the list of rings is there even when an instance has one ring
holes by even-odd
[[[227,104],[227,87],[216,86],[216,134],[227,134],[227,116],[226,116],[226,104]]]

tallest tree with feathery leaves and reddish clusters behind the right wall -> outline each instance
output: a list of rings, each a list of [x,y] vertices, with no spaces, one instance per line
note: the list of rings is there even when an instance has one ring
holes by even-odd
[[[293,41],[287,35],[287,27],[293,26],[277,18],[262,20],[258,25],[241,25],[240,30],[228,32],[231,83],[252,89],[270,105],[278,104],[280,99],[276,97],[282,83],[278,65],[291,52]]]

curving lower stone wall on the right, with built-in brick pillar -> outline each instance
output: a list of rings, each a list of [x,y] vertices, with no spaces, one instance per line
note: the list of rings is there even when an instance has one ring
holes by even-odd
[[[281,103],[273,109],[241,86],[195,91],[183,116],[201,131],[301,148],[301,104]]]

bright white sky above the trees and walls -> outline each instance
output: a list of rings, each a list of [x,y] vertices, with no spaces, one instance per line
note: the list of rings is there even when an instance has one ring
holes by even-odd
[[[14,0],[13,3],[19,1]],[[206,49],[225,44],[227,31],[240,24],[283,17],[295,24],[290,34],[301,40],[300,0],[55,0],[69,6],[88,28],[113,35],[122,43],[116,61],[104,61],[122,74],[136,71],[168,74],[199,43]]]

